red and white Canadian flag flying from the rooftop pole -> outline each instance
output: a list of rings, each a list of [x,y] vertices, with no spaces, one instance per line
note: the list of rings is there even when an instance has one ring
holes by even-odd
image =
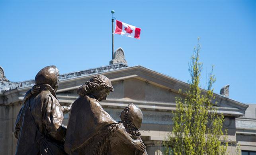
[[[141,28],[115,20],[115,34],[140,39]]]

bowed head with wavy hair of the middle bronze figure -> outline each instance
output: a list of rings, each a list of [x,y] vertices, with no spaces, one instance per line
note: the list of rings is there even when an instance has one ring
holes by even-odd
[[[77,90],[79,96],[92,95],[96,100],[106,100],[110,92],[113,92],[114,88],[109,78],[104,75],[95,75],[89,81],[85,82]]]

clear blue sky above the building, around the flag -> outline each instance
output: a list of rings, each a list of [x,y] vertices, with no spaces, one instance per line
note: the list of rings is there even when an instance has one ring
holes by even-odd
[[[129,66],[187,82],[201,38],[203,72],[215,65],[214,92],[256,103],[256,1],[0,1],[0,66],[10,81],[33,79],[47,65],[61,73],[108,65],[111,10],[142,29],[141,40],[115,34]]]

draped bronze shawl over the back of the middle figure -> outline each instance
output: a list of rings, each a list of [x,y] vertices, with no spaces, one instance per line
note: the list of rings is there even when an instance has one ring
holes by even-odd
[[[119,126],[98,100],[80,96],[70,109],[64,149],[69,155],[104,154],[110,134]]]

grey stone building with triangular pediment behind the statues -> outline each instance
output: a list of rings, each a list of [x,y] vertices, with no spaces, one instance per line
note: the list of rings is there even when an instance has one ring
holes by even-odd
[[[149,155],[161,155],[162,142],[172,130],[172,113],[175,111],[175,97],[178,90],[185,90],[188,84],[142,66],[128,67],[124,52],[119,48],[110,65],[60,75],[57,98],[61,105],[69,105],[76,98],[76,90],[96,74],[107,76],[115,89],[102,107],[117,121],[124,107],[134,103],[143,111],[141,135]],[[34,85],[34,80],[10,82],[0,68],[0,155],[13,155],[17,140],[14,124],[20,110],[23,96]],[[235,154],[240,144],[243,155],[256,151],[256,105],[228,98],[228,86],[221,94],[214,94],[218,113],[225,115],[224,129],[228,129],[229,154]],[[246,110],[247,109],[247,110]],[[68,114],[64,115],[64,124]]]

